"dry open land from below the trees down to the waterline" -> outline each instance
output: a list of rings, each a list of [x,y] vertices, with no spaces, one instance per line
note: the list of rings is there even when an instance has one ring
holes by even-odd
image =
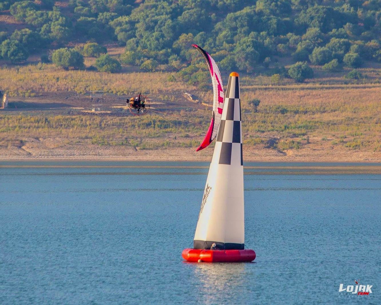
[[[368,79],[381,72],[360,71],[368,73]],[[210,108],[181,95],[191,92],[210,104],[211,91],[167,82],[169,72],[108,74],[61,71],[51,65],[0,72],[0,85],[8,85],[11,93],[9,108],[0,111],[2,159],[181,161],[211,157],[211,149],[194,152],[210,121]],[[346,84],[325,78],[322,84],[266,85],[260,82],[271,78],[259,78],[242,76],[245,160],[381,160],[378,83]],[[40,93],[35,93],[36,87]],[[127,94],[138,88],[152,92],[151,110],[143,117],[125,108]],[[249,104],[254,98],[260,101],[256,111]],[[102,111],[90,111],[91,104],[102,104]]]

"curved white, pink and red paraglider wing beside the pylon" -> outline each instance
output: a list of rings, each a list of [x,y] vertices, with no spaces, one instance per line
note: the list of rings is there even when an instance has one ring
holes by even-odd
[[[217,64],[213,58],[209,55],[209,53],[198,45],[192,45],[192,47],[199,50],[207,61],[210,76],[212,78],[213,84],[213,112],[212,118],[210,121],[210,126],[208,128],[208,132],[205,135],[204,140],[200,144],[200,146],[196,149],[199,151],[207,147],[216,137],[219,127],[219,122],[221,121],[222,109],[224,108],[224,87],[222,85],[221,74],[218,70]]]

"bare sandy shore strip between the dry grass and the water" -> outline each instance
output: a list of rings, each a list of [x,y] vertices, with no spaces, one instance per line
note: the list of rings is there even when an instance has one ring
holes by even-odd
[[[60,145],[57,143],[59,141],[51,141],[51,139],[46,141],[30,139],[21,147],[0,147],[0,161],[210,161],[213,154],[213,148],[195,152],[194,148],[139,150],[129,146]],[[243,159],[246,162],[381,162],[381,152],[354,150],[331,145],[288,151],[245,146]]]

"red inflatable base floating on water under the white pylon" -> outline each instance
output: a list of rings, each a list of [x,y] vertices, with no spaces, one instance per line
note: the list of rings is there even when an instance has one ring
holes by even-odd
[[[252,262],[256,254],[254,250],[203,250],[187,248],[182,251],[182,257],[188,262],[230,263]]]

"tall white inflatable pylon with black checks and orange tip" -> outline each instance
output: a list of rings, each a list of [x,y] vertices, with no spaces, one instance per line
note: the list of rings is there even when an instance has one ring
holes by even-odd
[[[195,249],[210,249],[213,243],[216,249],[245,247],[242,125],[237,73],[229,77],[194,237]]]

